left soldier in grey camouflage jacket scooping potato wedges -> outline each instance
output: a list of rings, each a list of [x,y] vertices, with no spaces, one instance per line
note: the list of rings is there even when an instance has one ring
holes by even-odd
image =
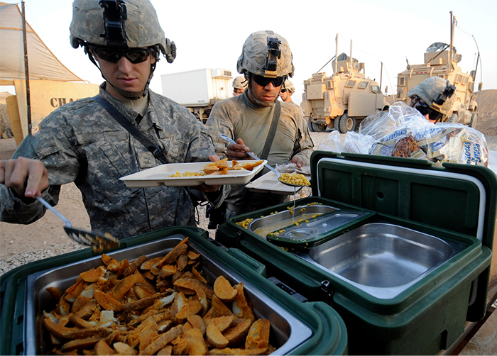
[[[55,206],[60,186],[75,182],[92,230],[126,238],[168,226],[195,225],[190,189],[128,188],[119,180],[161,162],[219,160],[202,123],[148,88],[160,52],[168,62],[176,54],[151,2],[75,0],[70,40],[73,48],[84,48],[105,82],[98,96],[50,113],[11,160],[0,162],[1,220],[38,220],[45,208],[35,196]],[[132,128],[121,126],[126,121]],[[132,133],[133,128],[138,133]],[[146,148],[136,139],[139,136],[151,146]],[[199,189],[214,205],[221,204],[224,189],[205,184]]]

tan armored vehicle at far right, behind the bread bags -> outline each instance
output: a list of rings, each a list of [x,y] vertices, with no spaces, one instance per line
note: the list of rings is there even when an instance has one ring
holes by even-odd
[[[447,122],[463,123],[464,125],[474,127],[476,124],[476,115],[478,104],[476,102],[479,88],[474,88],[476,79],[476,69],[469,74],[462,72],[461,67],[457,64],[461,61],[462,56],[457,53],[453,45],[455,18],[451,15],[451,40],[450,44],[436,42],[430,45],[425,52],[425,62],[421,65],[409,65],[405,71],[398,74],[396,101],[404,101],[410,104],[407,94],[417,84],[420,84],[428,77],[439,76],[447,79],[456,87],[457,101],[452,106],[452,116],[447,118]],[[476,61],[478,65],[478,61]]]

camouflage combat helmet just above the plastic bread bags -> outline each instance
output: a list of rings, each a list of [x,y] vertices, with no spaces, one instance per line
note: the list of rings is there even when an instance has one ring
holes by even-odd
[[[409,98],[418,96],[425,101],[430,109],[442,114],[442,121],[452,113],[452,106],[456,102],[454,95],[456,87],[442,77],[430,77],[417,84],[408,92]]]

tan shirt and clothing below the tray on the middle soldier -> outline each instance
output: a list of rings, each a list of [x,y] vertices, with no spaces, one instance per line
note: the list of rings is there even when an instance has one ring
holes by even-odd
[[[300,108],[295,104],[280,101],[281,113],[276,133],[268,155],[268,164],[275,167],[299,157],[305,165],[310,164],[314,148],[307,125]],[[226,156],[229,145],[219,134],[224,133],[233,140],[241,138],[256,156],[260,157],[268,137],[275,105],[260,107],[254,105],[244,91],[217,102],[209,115],[206,126],[212,135],[217,155]],[[264,171],[267,172],[267,169]],[[231,211],[240,213],[279,204],[285,198],[282,194],[253,194],[241,186],[231,186],[231,194],[225,201]],[[247,206],[249,204],[250,206]]]

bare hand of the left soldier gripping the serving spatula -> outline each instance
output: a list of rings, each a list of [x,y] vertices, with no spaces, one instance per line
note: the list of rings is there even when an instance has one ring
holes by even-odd
[[[41,192],[48,188],[47,169],[40,160],[25,157],[0,160],[0,183],[15,190],[20,196],[41,196]]]

